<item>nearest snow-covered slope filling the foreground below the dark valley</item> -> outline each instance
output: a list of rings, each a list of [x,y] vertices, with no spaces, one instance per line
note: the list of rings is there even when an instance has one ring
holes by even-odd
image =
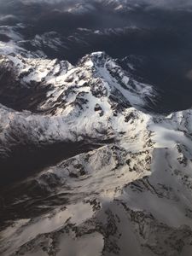
[[[126,113],[115,143],[5,192],[13,224],[1,232],[3,255],[90,255],[93,244],[94,255],[189,255],[192,113]]]

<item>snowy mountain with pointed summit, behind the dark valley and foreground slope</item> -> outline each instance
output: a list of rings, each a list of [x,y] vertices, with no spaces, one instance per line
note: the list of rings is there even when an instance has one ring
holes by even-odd
[[[17,50],[1,55],[0,99],[7,107],[1,107],[1,160],[6,177],[10,170],[12,177],[25,172],[28,161],[41,161],[34,160],[37,149],[53,151],[59,144],[65,152],[70,144],[73,152],[73,143],[96,147],[113,140],[125,131],[127,108],[148,111],[158,99],[152,86],[137,82],[105,53],[86,55],[74,67],[67,61],[26,57],[26,52],[21,52],[23,57]],[[20,150],[26,155],[24,166]]]

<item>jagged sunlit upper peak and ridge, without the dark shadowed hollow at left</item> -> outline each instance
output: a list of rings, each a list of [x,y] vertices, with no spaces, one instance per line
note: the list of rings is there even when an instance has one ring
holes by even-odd
[[[92,104],[100,103],[101,99],[104,102],[111,99],[116,103],[120,100],[123,103],[121,105],[125,106],[152,108],[157,97],[150,85],[137,82],[131,73],[125,72],[103,52],[86,55],[76,67],[67,61],[25,58],[15,53],[1,55],[0,61],[3,73],[1,79],[8,84],[11,77],[23,87],[30,88],[34,84],[49,87],[45,101],[37,106],[41,110],[53,108],[55,103],[58,108],[61,103],[63,111],[78,96],[88,101],[87,105],[90,105],[91,98]],[[6,90],[7,87],[6,84]]]

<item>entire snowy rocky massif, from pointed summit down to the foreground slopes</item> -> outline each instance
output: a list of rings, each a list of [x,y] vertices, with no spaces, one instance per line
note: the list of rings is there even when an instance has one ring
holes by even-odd
[[[73,66],[0,45],[0,175],[23,168],[1,191],[1,255],[189,256],[192,111],[152,113],[154,87],[103,52]]]

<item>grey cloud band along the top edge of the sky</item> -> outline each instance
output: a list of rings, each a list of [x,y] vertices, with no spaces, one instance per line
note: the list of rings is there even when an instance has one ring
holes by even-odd
[[[123,8],[119,8],[120,6]],[[88,27],[95,26],[96,23],[103,27],[140,26],[143,23],[143,13],[150,9],[189,11],[191,7],[192,0],[0,0],[0,24],[6,21],[8,24],[10,21],[16,23],[18,20],[44,21],[47,20],[46,15],[49,15],[50,20],[62,24],[73,17],[73,22],[69,21],[68,26],[74,26],[72,23],[75,22],[79,26],[86,23]],[[81,15],[81,20],[74,19],[74,15]],[[84,22],[86,19],[87,22]],[[144,25],[150,21],[150,17],[145,17],[145,20]],[[157,22],[158,20],[154,24]]]

